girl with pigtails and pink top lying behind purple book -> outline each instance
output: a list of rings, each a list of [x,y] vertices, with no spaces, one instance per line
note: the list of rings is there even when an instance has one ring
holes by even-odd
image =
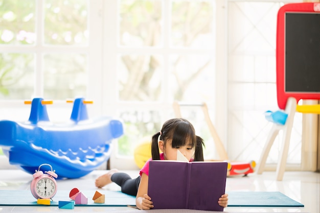
[[[152,198],[148,196],[149,161],[177,160],[178,150],[190,162],[203,161],[203,145],[202,138],[195,134],[194,127],[189,121],[185,119],[170,119],[164,123],[161,131],[152,136],[152,158],[140,170],[139,177],[132,179],[128,174],[112,169],[98,177],[95,184],[97,187],[103,187],[115,182],[121,186],[123,193],[136,196],[135,203],[139,209],[153,208]],[[228,195],[222,195],[217,202],[225,208],[228,203]]]

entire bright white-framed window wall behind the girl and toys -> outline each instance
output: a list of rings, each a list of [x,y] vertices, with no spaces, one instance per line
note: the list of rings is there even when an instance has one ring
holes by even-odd
[[[24,100],[43,97],[54,101],[50,120],[64,122],[72,110],[65,99],[93,100],[89,116],[124,123],[112,167],[132,169],[135,146],[174,116],[173,101],[205,102],[230,159],[258,160],[263,112],[277,108],[284,2],[0,0],[0,119],[27,121]],[[181,113],[205,139],[206,158],[216,159],[201,109]]]

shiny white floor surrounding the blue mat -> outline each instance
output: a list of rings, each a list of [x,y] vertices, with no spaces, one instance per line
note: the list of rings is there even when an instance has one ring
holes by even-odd
[[[81,188],[81,190],[96,190],[95,179],[106,171],[94,171],[87,176],[72,180],[58,180],[59,189]],[[138,171],[125,171],[132,177],[138,176]],[[0,170],[0,190],[29,190],[32,175],[20,170]],[[112,183],[103,190],[119,190]],[[279,191],[291,199],[305,205],[304,208],[241,208],[227,207],[227,212],[320,212],[320,173],[286,172],[282,181],[276,180],[275,172],[264,172],[262,175],[249,174],[247,177],[228,177],[226,191]],[[114,212],[117,210],[131,211],[131,207],[75,207],[71,212]],[[0,206],[2,212],[69,212],[57,206]]]

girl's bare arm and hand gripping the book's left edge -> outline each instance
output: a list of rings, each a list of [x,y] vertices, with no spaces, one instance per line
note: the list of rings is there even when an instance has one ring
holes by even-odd
[[[151,198],[148,196],[148,175],[142,173],[138,193],[135,198],[135,205],[139,209],[153,208]]]

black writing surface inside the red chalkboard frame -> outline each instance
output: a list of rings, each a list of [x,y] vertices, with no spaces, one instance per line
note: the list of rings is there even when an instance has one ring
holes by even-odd
[[[320,14],[285,14],[285,91],[320,92]]]

